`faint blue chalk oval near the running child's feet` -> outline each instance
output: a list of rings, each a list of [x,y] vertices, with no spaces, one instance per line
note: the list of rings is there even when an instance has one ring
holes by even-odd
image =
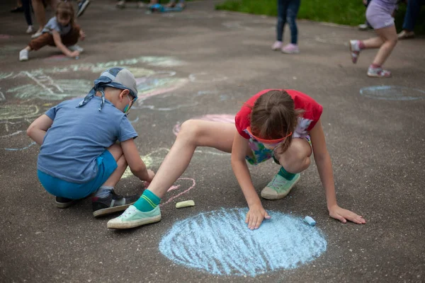
[[[425,98],[425,91],[404,86],[367,86],[360,89],[361,96],[381,100],[419,100]]]

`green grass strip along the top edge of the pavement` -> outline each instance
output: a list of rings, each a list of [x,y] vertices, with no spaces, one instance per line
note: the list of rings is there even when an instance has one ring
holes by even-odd
[[[276,0],[227,0],[215,6],[217,10],[278,16]],[[365,6],[360,0],[301,0],[298,18],[341,25],[358,25],[365,22]],[[397,30],[402,29],[406,5],[400,4],[395,17]],[[425,34],[425,6],[417,18],[415,32]]]

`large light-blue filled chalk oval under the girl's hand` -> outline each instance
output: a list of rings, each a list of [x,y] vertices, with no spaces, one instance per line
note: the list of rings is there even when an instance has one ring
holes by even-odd
[[[327,249],[316,227],[302,218],[269,212],[257,230],[245,224],[248,209],[218,209],[176,222],[159,243],[166,258],[213,275],[251,276],[293,269]]]

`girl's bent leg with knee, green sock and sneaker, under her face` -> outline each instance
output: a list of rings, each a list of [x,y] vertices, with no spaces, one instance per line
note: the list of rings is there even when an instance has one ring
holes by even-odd
[[[310,143],[309,136],[295,138],[283,154],[279,154],[278,149],[276,149],[276,157],[282,167],[273,180],[261,190],[261,197],[267,200],[278,200],[288,195],[290,190],[300,180],[299,173],[310,166],[310,156],[312,154]],[[276,158],[275,161],[277,163]]]

